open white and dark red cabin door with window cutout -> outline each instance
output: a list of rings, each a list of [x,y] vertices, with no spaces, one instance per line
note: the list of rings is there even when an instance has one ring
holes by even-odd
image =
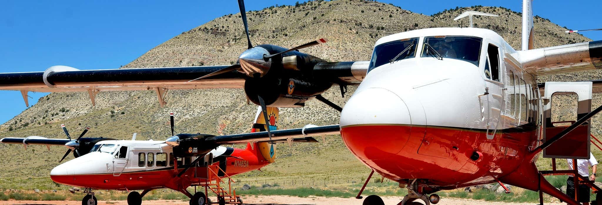
[[[545,82],[544,93],[544,112],[545,119],[542,139],[553,138],[554,135],[562,132],[566,127],[575,123],[591,112],[592,106],[592,82]],[[553,104],[565,105],[569,102],[555,98],[557,95],[577,96],[577,118],[569,121],[556,121],[552,118]],[[554,102],[556,100],[556,102]],[[574,100],[574,99],[573,99]],[[555,105],[555,106],[556,106]],[[555,111],[554,111],[555,112]],[[553,121],[554,120],[554,121]],[[563,158],[563,159],[589,159],[589,133],[590,121],[586,121],[577,129],[569,132],[558,141],[544,148],[544,158]]]

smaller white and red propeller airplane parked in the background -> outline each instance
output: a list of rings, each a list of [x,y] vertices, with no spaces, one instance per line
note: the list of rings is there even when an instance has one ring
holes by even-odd
[[[311,127],[303,129],[276,130],[278,108],[267,109],[268,126],[273,137],[266,138],[265,113],[258,109],[252,133],[214,136],[181,133],[173,135],[173,114],[170,120],[172,135],[166,141],[117,140],[111,138],[84,138],[89,128],[77,139],[50,139],[42,136],[26,138],[2,138],[6,144],[64,145],[69,148],[61,161],[73,150],[75,159],[53,168],[50,172],[54,182],[79,186],[87,192],[82,204],[96,205],[93,189],[131,191],[128,204],[140,205],[142,197],[154,189],[168,188],[190,197],[190,204],[211,203],[208,192],[217,195],[217,204],[242,204],[240,196],[231,188],[222,189],[220,183],[230,183],[231,176],[258,170],[275,161],[274,144],[278,142],[317,142]],[[338,127],[332,126],[338,133]],[[328,134],[321,132],[320,134]],[[287,137],[282,137],[286,135]],[[294,136],[303,136],[293,138]],[[245,143],[246,148],[225,147],[222,144]],[[191,194],[190,186],[204,186],[205,191]],[[143,190],[138,193],[133,190]],[[228,191],[225,191],[228,190]]]

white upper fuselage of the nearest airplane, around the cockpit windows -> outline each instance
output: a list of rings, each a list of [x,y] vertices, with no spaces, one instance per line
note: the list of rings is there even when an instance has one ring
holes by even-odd
[[[421,57],[424,37],[433,36],[482,38],[479,66],[452,58],[438,60]],[[386,63],[368,72],[343,109],[341,127],[354,124],[414,124],[488,129],[488,123],[489,127],[497,123],[500,112],[506,114],[507,121],[497,129],[526,122],[526,118],[523,118],[523,123],[520,123],[518,118],[521,116],[510,111],[518,107],[504,103],[504,100],[509,100],[507,95],[510,93],[503,93],[503,88],[514,87],[509,83],[510,72],[535,88],[533,77],[527,73],[523,76],[520,65],[509,66],[507,61],[515,59],[513,55],[516,50],[500,35],[481,28],[427,28],[388,35],[380,38],[375,47],[417,37],[419,40],[414,58]],[[499,48],[498,81],[486,78],[483,72],[489,44]],[[491,94],[479,98],[486,92],[486,87]]]

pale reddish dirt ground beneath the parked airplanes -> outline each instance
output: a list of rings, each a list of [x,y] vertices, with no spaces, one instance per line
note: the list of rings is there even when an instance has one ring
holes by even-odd
[[[401,201],[400,197],[383,197],[383,201],[385,204],[395,205]],[[244,204],[281,204],[281,205],[334,205],[334,204],[345,204],[345,205],[353,205],[353,204],[362,204],[362,200],[358,200],[355,198],[338,198],[338,197],[288,197],[288,196],[253,196],[253,197],[243,197]],[[0,201],[0,204],[46,204],[46,205],[79,205],[81,201]],[[99,205],[105,204],[119,204],[119,205],[127,205],[126,201],[98,201]],[[142,201],[143,205],[187,205],[188,201],[181,200],[157,200],[157,201]],[[441,198],[441,201],[437,205],[526,205],[533,203],[505,203],[505,202],[490,202],[490,201],[480,201],[480,200],[467,200],[467,199],[459,199],[459,198]],[[553,203],[560,204],[560,203]]]

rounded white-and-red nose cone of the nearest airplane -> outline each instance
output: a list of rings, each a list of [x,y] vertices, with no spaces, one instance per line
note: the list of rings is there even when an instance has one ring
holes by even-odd
[[[395,93],[369,88],[353,94],[341,112],[340,124],[343,141],[356,156],[380,159],[386,157],[382,153],[395,155],[405,147],[412,118]]]

